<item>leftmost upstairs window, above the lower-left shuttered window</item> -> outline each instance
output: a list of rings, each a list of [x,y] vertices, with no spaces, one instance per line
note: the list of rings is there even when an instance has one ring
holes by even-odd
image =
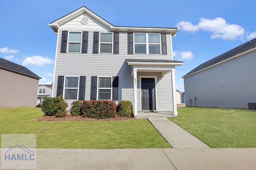
[[[81,52],[81,32],[69,32],[68,34],[68,52],[69,53],[80,53]]]

